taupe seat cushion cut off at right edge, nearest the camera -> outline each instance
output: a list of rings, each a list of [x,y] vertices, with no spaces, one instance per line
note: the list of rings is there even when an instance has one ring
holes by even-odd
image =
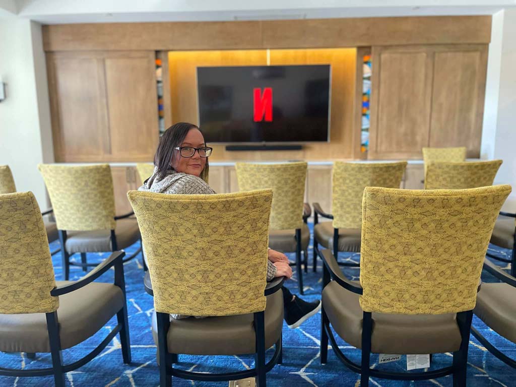
[[[506,283],[482,283],[474,313],[493,331],[516,343],[516,288]]]

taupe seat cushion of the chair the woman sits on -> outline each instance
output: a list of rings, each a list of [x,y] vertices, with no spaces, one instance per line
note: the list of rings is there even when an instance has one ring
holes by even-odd
[[[265,348],[281,336],[283,295],[281,290],[267,296],[265,309]],[[152,335],[157,345],[156,313],[152,318]],[[235,355],[255,352],[252,314],[236,316],[171,319],[167,343],[170,353]]]

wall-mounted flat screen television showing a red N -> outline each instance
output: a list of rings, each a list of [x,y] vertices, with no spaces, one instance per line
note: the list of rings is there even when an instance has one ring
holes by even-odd
[[[198,67],[206,142],[328,141],[330,65]]]

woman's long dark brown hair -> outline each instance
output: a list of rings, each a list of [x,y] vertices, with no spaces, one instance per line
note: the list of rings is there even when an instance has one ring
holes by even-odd
[[[159,138],[158,148],[154,155],[154,165],[157,167],[159,178],[163,179],[167,171],[172,169],[171,162],[174,156],[174,148],[181,147],[190,129],[201,131],[197,125],[188,122],[178,122],[170,126],[163,136]],[[206,183],[208,183],[208,169],[208,158],[206,157],[206,165],[200,175],[200,178]]]

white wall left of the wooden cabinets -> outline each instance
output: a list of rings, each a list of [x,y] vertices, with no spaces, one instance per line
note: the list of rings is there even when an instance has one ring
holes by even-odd
[[[23,19],[0,21],[0,165],[8,164],[18,191],[33,191],[47,208],[39,163],[54,161],[41,26]]]

